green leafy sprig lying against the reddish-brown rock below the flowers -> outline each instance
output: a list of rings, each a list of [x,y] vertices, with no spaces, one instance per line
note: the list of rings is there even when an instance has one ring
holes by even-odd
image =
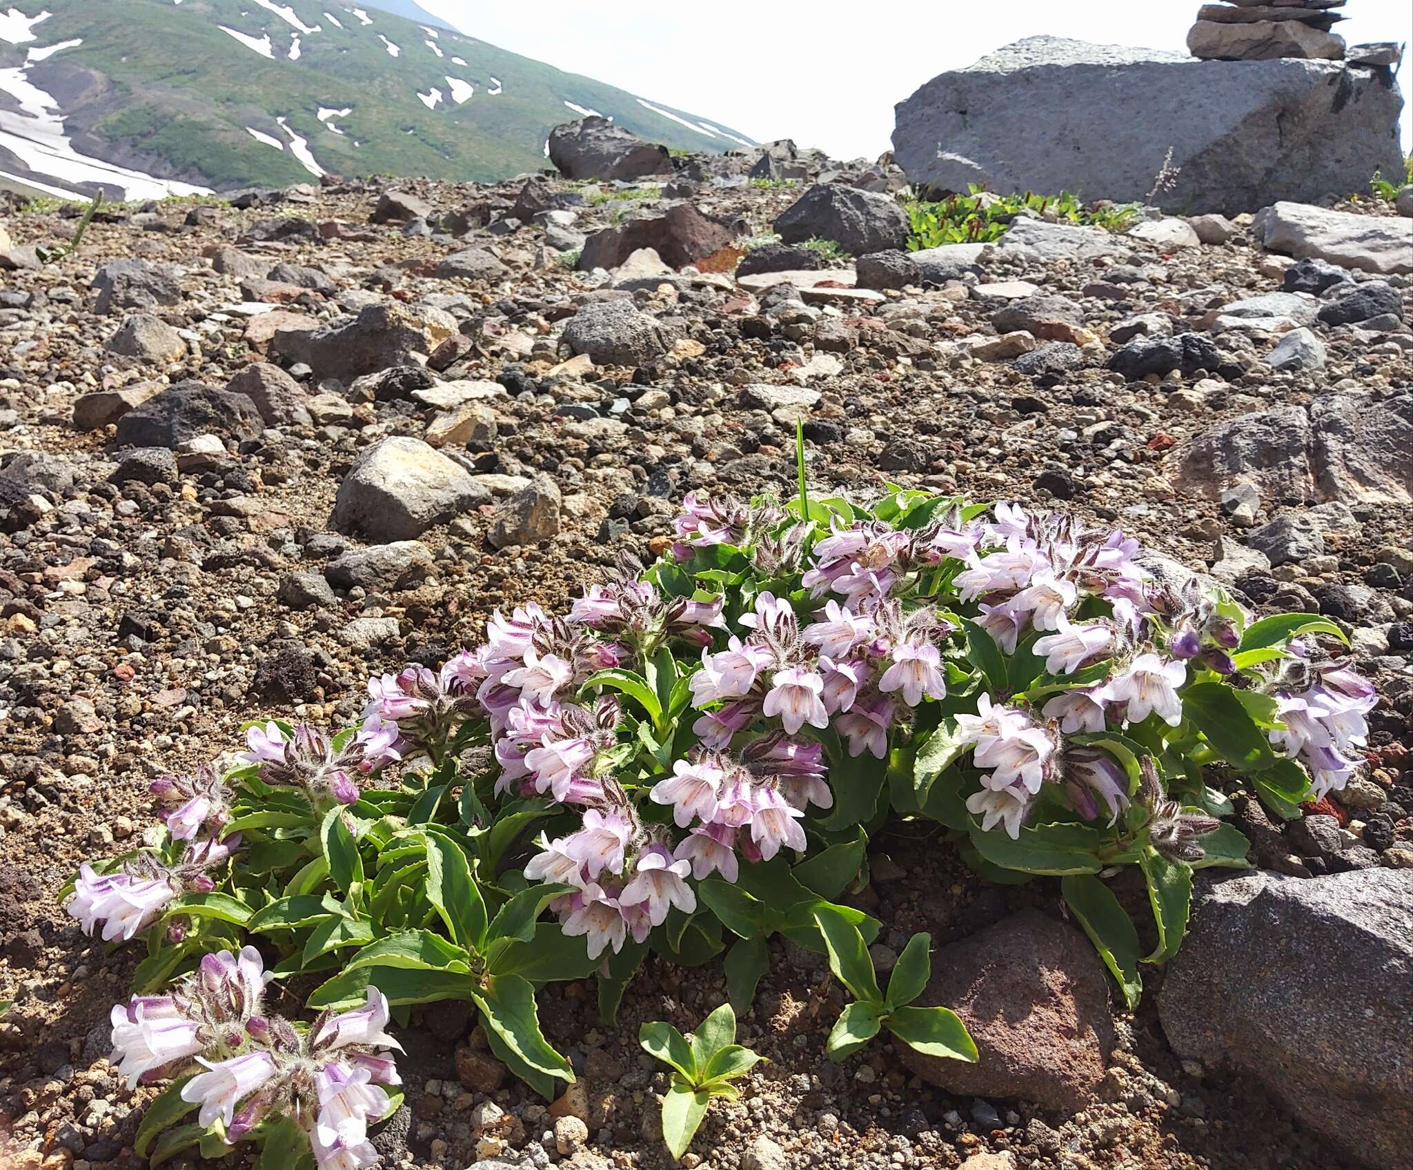
[[[858,927],[832,906],[817,906],[814,920],[829,952],[829,969],[855,999],[839,1013],[829,1032],[829,1060],[841,1061],[852,1056],[886,1027],[924,1056],[976,1063],[976,1044],[955,1012],[907,1006],[923,993],[933,974],[931,935],[920,933],[907,941],[889,976],[885,996]]]

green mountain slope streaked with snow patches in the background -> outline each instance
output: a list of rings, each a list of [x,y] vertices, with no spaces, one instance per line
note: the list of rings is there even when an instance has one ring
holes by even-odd
[[[324,171],[496,179],[544,167],[550,129],[589,110],[671,147],[749,144],[342,0],[14,0],[0,13],[0,181],[41,189],[143,198],[168,181],[219,191]]]

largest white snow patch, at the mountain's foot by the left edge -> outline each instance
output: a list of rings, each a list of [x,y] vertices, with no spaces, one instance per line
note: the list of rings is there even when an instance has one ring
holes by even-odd
[[[14,11],[14,10],[11,10]],[[0,16],[0,21],[8,17]],[[30,20],[25,17],[25,20]],[[30,20],[37,24],[38,17]],[[0,25],[6,27],[6,25]],[[27,25],[28,27],[28,25]],[[6,27],[6,31],[14,31]],[[11,41],[13,44],[13,41]],[[18,110],[0,109],[0,147],[8,150],[24,167],[49,182],[14,175],[16,181],[41,188],[64,198],[82,198],[76,188],[85,182],[102,182],[122,189],[124,199],[161,199],[167,195],[209,195],[209,187],[153,178],[102,158],[79,154],[64,133],[64,114],[58,102],[35,86],[25,75],[25,66],[0,69],[0,92],[8,93]],[[62,187],[71,184],[71,188]]]

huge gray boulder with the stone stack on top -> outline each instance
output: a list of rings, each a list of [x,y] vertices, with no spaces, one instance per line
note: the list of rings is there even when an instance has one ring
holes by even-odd
[[[1027,37],[940,73],[897,105],[893,153],[947,191],[1075,191],[1238,213],[1399,174],[1403,99],[1388,71],[1342,61],[1195,61],[1159,49]]]

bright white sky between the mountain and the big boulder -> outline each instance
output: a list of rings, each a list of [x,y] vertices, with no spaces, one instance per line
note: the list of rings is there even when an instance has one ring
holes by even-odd
[[[836,158],[890,147],[893,105],[945,69],[1041,32],[1186,48],[1201,0],[418,0],[469,37],[584,73],[757,141]],[[872,17],[872,18],[870,18]],[[1413,38],[1409,0],[1352,0],[1349,44]],[[1410,59],[1399,82],[1410,92]],[[1409,106],[1403,143],[1409,148]]]

